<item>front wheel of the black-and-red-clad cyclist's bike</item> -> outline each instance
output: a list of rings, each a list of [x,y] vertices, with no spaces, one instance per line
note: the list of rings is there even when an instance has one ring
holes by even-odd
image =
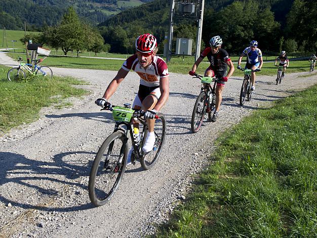
[[[191,115],[191,131],[196,133],[201,128],[206,113],[207,94],[201,92],[197,97],[194,109]]]

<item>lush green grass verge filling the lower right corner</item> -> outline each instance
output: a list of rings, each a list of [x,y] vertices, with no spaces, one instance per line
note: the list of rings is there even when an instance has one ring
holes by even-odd
[[[314,86],[224,133],[156,237],[316,237],[316,105]]]

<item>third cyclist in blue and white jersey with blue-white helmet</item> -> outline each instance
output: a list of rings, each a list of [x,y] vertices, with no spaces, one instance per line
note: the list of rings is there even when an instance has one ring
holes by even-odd
[[[251,41],[250,47],[247,47],[239,57],[237,69],[241,69],[241,61],[242,58],[247,56],[247,64],[245,69],[260,69],[263,64],[262,52],[258,48],[257,41]],[[252,80],[252,88],[251,90],[255,90],[255,72],[251,72],[251,80]]]

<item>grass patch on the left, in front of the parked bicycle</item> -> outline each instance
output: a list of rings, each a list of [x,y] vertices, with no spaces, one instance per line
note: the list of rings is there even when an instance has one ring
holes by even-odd
[[[65,98],[83,96],[88,92],[71,85],[87,84],[71,77],[56,77],[52,80],[36,77],[27,83],[9,82],[10,68],[0,66],[0,135],[24,123],[37,120],[42,107],[55,104],[69,106]]]

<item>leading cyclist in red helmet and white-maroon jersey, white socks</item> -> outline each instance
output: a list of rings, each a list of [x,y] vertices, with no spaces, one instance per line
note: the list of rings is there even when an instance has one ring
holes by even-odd
[[[153,118],[169,98],[169,72],[166,62],[156,55],[157,43],[152,34],[140,35],[136,39],[135,49],[136,54],[130,56],[123,63],[103,97],[96,100],[96,104],[104,106],[130,70],[139,74],[139,91],[135,96],[132,108],[142,109],[146,112],[145,118],[149,133],[142,149],[144,152],[149,152],[153,149],[155,143],[155,119]],[[134,127],[138,127],[137,122],[135,122]],[[129,153],[131,154],[131,152]]]

